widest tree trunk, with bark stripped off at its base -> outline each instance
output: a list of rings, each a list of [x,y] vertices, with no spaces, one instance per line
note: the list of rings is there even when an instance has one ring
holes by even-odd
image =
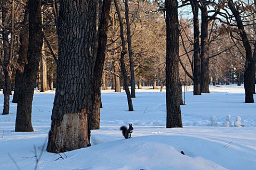
[[[90,146],[93,104],[97,2],[60,1],[57,88],[48,152]],[[79,26],[79,27],[78,27]]]

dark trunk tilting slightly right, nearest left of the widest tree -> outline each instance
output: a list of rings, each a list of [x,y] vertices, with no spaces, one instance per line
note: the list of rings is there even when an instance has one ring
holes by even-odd
[[[15,132],[33,131],[31,123],[32,101],[34,87],[38,73],[38,65],[42,50],[42,20],[41,20],[41,0],[30,0],[29,10],[29,44],[28,63],[25,64],[23,79],[19,90],[17,105],[17,117]]]

